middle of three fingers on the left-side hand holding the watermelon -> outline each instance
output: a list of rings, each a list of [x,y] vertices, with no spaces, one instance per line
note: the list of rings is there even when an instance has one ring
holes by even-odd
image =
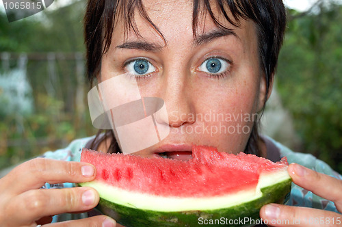
[[[8,202],[5,215],[21,225],[59,213],[87,211],[96,206],[98,193],[91,187],[34,189]]]

